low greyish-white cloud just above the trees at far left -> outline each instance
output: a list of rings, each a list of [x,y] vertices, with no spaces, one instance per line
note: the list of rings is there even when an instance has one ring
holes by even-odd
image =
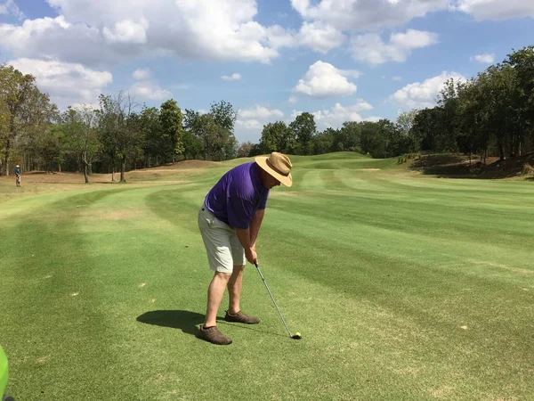
[[[62,109],[79,102],[96,103],[102,89],[113,81],[109,71],[91,70],[69,62],[21,58],[9,64],[36,77],[39,89],[50,94],[52,102]]]

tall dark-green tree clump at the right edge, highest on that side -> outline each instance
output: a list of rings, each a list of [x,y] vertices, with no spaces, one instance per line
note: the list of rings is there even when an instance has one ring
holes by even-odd
[[[449,79],[438,105],[417,112],[412,135],[424,150],[500,160],[534,151],[534,46],[508,54],[466,81]]]

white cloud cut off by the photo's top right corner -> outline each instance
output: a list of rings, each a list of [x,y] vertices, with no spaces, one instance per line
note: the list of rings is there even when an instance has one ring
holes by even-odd
[[[534,17],[532,0],[454,0],[452,8],[472,14],[475,20]]]

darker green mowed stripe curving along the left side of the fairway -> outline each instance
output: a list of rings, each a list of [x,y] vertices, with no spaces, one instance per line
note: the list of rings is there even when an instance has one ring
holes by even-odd
[[[3,238],[17,263],[3,258],[1,270],[11,272],[19,285],[2,289],[10,306],[2,319],[2,342],[12,356],[10,386],[20,399],[79,399],[80,394],[113,399],[128,387],[126,372],[114,363],[117,349],[110,348],[114,330],[98,307],[105,299],[92,274],[90,251],[73,224],[77,204],[109,194],[45,203]],[[131,385],[127,391],[141,390]]]

